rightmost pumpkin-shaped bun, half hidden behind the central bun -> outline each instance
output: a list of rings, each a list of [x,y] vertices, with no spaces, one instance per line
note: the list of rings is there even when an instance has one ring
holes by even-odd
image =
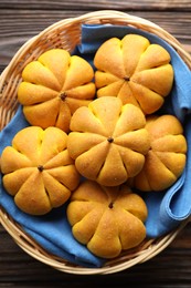
[[[172,115],[149,116],[146,128],[151,148],[134,184],[141,191],[162,191],[170,187],[183,172],[187,141],[181,123]]]

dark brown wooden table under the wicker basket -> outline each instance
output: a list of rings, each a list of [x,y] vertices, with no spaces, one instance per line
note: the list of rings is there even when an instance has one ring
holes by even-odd
[[[147,18],[191,53],[191,0],[1,0],[0,72],[18,49],[50,24],[89,11],[115,9]],[[33,259],[0,226],[0,287],[191,287],[191,224],[151,260],[109,276],[74,276]]]

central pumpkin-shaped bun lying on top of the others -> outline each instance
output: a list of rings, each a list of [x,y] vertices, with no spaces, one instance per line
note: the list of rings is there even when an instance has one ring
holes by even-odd
[[[115,96],[92,101],[71,120],[67,150],[77,171],[105,186],[137,175],[150,143],[141,110]]]

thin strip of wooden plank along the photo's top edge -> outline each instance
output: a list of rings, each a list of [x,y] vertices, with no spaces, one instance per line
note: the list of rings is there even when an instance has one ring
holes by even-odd
[[[0,8],[10,8],[10,9],[41,9],[44,10],[98,10],[98,9],[117,9],[117,10],[178,10],[184,11],[191,9],[190,0],[161,0],[161,1],[152,1],[152,0],[71,0],[71,1],[51,1],[51,0],[1,0]]]

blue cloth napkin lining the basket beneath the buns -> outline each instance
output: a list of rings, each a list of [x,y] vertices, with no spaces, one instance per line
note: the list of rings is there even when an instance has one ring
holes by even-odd
[[[168,43],[153,34],[128,27],[83,25],[82,44],[76,47],[74,53],[84,56],[93,65],[94,54],[105,40],[112,37],[123,38],[127,33],[142,34],[150,42],[165,47],[171,54],[174,84],[171,95],[162,107],[162,113],[172,113],[179,117],[185,127],[189,147],[187,167],[177,183],[168,191],[144,194],[149,210],[146,222],[147,236],[158,237],[177,227],[191,213],[191,188],[188,176],[188,172],[191,169],[191,73]],[[13,119],[0,133],[0,154],[6,146],[11,144],[17,132],[28,125],[22,106],[19,106]],[[65,214],[67,204],[45,216],[38,217],[24,214],[17,208],[13,198],[3,189],[1,181],[0,205],[47,251],[85,267],[100,267],[105,263],[104,259],[92,255],[72,236]]]

